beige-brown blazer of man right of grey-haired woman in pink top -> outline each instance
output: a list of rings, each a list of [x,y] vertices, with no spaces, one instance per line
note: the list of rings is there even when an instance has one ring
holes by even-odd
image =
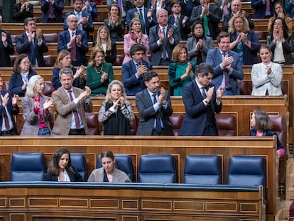
[[[78,97],[83,92],[82,89],[72,87],[75,97]],[[67,92],[63,87],[59,87],[52,94],[53,104],[57,112],[54,127],[52,130],[53,135],[68,135],[70,133],[70,124],[72,122],[72,111],[77,109],[77,112],[82,119],[82,125],[85,127],[86,134],[89,134],[88,126],[86,122],[85,112],[92,112],[93,104],[90,100],[89,104],[86,104],[85,99],[82,99],[79,104],[75,104],[70,101]]]

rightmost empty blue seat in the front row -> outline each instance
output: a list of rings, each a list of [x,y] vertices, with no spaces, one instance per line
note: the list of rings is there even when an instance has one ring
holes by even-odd
[[[262,156],[231,156],[227,183],[229,185],[263,185],[265,187],[266,163],[264,158]]]

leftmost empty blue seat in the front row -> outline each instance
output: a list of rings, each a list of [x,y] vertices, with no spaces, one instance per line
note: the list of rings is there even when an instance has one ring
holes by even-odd
[[[42,181],[45,171],[43,153],[12,153],[11,181]]]

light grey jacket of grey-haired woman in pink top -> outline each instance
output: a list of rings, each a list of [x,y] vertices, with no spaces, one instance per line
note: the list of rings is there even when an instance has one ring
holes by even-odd
[[[48,114],[45,114],[43,105],[45,101],[48,99],[46,96],[40,97],[40,107],[42,110],[42,117],[44,120],[44,123],[48,127],[48,129],[51,131],[50,128],[50,121],[53,118],[52,112],[49,111]],[[40,115],[35,114],[33,112],[34,108],[34,99],[33,97],[23,97],[21,99],[21,105],[23,106],[23,117],[24,117],[24,124],[23,129],[21,130],[21,135],[38,135],[39,126],[40,126]]]

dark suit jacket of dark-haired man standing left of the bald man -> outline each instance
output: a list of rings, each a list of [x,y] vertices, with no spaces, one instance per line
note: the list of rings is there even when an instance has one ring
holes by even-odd
[[[36,58],[38,60],[39,66],[45,66],[45,60],[43,53],[48,52],[48,46],[46,44],[45,38],[42,35],[42,44],[39,46],[37,38],[35,36],[34,39],[34,45],[35,45],[35,54]],[[28,41],[28,36],[26,36],[26,33],[22,33],[18,36],[16,36],[16,51],[18,54],[26,53],[28,55],[28,58],[31,58],[31,43]]]

